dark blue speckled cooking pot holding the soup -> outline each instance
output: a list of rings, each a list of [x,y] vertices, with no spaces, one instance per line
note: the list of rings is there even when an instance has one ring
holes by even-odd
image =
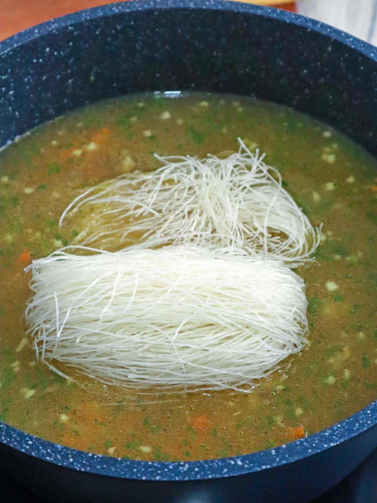
[[[0,44],[0,146],[87,102],[150,90],[232,92],[306,112],[377,154],[377,50],[276,9],[114,4]],[[377,446],[377,403],[307,439],[201,462],[123,461],[0,423],[0,468],[48,501],[305,503]]]

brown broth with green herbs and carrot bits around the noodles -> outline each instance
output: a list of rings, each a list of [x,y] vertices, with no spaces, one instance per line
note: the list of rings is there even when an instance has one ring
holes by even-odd
[[[28,433],[116,457],[172,461],[234,456],[322,430],[377,397],[377,162],[291,109],[251,98],[147,94],[103,101],[44,124],[1,152],[1,419]],[[159,167],[160,155],[266,152],[313,225],[323,222],[307,285],[310,346],[250,394],[154,395],[36,362],[25,338],[28,254],[70,242],[58,228],[80,191]],[[74,381],[81,384],[78,386]],[[143,390],[144,391],[144,390]]]

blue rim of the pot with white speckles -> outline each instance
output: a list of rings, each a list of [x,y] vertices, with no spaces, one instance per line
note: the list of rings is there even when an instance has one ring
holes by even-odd
[[[377,62],[377,47],[325,23],[271,7],[233,3],[225,0],[207,0],[205,2],[202,0],[147,0],[94,7],[46,21],[13,35],[0,42],[0,56],[29,40],[51,32],[57,33],[67,26],[88,22],[92,19],[111,17],[119,13],[181,9],[230,11],[276,19],[283,23],[304,27],[308,31],[316,31],[327,36],[329,40],[335,39],[346,47]],[[136,480],[205,480],[258,472],[292,463],[330,449],[375,424],[377,424],[377,400],[344,421],[287,445],[242,456],[186,462],[123,460],[78,451],[29,435],[1,421],[0,443],[43,461],[87,473]]]

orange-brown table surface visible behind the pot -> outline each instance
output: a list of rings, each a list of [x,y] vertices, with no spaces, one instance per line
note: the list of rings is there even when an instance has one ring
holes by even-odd
[[[245,1],[245,0],[244,0]],[[255,0],[255,4],[271,3],[289,11],[295,11],[295,2],[286,3],[280,0]],[[0,40],[30,28],[48,19],[57,18],[89,7],[109,4],[109,0],[0,0],[2,17],[0,20]]]

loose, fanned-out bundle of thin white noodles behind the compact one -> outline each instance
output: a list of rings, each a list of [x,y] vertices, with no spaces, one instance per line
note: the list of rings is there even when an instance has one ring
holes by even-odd
[[[84,214],[74,244],[116,251],[190,242],[213,249],[237,247],[250,256],[296,267],[319,244],[313,228],[276,169],[240,141],[237,153],[156,157],[165,165],[93,187],[64,211]],[[75,222],[76,225],[76,222]]]

